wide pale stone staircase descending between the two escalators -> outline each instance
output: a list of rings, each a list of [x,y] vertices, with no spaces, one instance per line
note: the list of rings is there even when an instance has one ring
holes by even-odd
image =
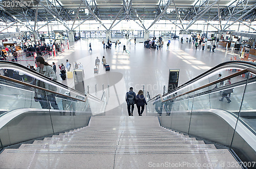
[[[95,116],[0,154],[0,168],[232,168],[226,149],[162,128],[152,116]],[[233,168],[239,168],[233,165]]]

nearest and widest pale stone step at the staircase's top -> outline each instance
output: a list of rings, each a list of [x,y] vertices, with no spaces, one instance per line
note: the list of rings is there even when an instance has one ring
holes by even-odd
[[[10,158],[10,155],[12,158]],[[189,157],[189,158],[187,158]],[[15,159],[15,160],[13,160]],[[115,160],[115,162],[114,162]],[[228,150],[191,152],[56,152],[56,151],[4,151],[1,168],[150,168],[167,164],[171,168],[239,168],[227,166],[236,163]],[[224,163],[225,166],[221,167]],[[180,164],[180,165],[179,165]],[[191,167],[196,165],[197,167]],[[115,165],[115,166],[114,166]],[[166,166],[167,166],[166,165]],[[172,167],[172,165],[174,165]],[[198,166],[200,165],[200,167]],[[207,165],[211,165],[208,166]],[[178,166],[178,167],[175,167]],[[162,167],[163,168],[163,167]]]

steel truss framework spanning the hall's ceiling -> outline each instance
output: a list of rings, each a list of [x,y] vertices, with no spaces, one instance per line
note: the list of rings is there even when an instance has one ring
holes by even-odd
[[[155,5],[144,3],[144,7],[136,0],[120,0],[120,4],[110,4],[110,7],[104,6],[103,0],[76,0],[75,5],[71,3],[70,8],[64,3],[67,3],[66,0],[33,0],[36,5],[32,7],[20,6],[18,2],[22,0],[15,0],[17,5],[13,7],[3,4],[12,1],[3,0],[0,3],[0,21],[6,23],[5,29],[20,23],[35,32],[55,20],[68,31],[73,31],[87,20],[96,20],[105,30],[110,31],[121,20],[131,19],[144,30],[150,30],[157,21],[164,19],[184,31],[198,20],[205,21],[218,31],[227,30],[237,22],[255,31],[255,28],[247,24],[256,21],[254,0],[230,0],[228,6],[224,6],[220,0],[196,0],[193,5],[186,7],[182,6],[179,0],[160,0]],[[149,19],[153,22],[146,28],[145,20]],[[111,20],[108,28],[104,20]],[[37,28],[38,21],[45,21],[46,24]],[[72,24],[68,24],[68,21],[72,21]],[[219,25],[212,25],[211,21],[218,21]]]

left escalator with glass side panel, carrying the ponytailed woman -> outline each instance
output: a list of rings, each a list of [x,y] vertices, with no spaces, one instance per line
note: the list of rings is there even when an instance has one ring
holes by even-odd
[[[91,116],[104,115],[106,92],[100,100],[14,62],[0,61],[0,74],[0,149],[84,127]],[[54,90],[33,85],[35,79]],[[35,91],[47,99],[35,97]],[[51,94],[55,103],[49,102]]]

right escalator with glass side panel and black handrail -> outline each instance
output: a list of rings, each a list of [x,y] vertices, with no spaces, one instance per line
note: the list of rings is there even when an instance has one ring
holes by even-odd
[[[224,62],[164,95],[147,94],[147,115],[158,116],[162,127],[230,148],[244,167],[255,168],[255,75],[253,62]]]

